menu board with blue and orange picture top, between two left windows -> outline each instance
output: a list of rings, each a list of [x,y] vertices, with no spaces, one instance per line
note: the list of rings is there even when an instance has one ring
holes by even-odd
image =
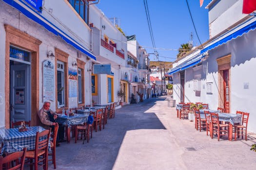
[[[78,71],[68,68],[68,92],[69,97],[78,97]]]

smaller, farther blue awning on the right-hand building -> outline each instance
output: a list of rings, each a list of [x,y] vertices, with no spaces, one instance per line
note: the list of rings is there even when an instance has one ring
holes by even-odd
[[[171,74],[176,73],[178,71],[182,71],[186,68],[190,68],[190,67],[193,67],[193,66],[197,65],[198,63],[201,62],[201,58],[202,58],[202,55],[199,55],[196,58],[192,58],[192,59],[189,59],[189,60],[181,63],[177,67],[171,69],[171,71],[168,73],[168,75],[171,75]]]

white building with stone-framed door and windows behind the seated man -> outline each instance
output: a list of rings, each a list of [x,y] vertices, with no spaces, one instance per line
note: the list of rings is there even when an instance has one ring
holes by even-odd
[[[54,111],[91,103],[87,70],[96,56],[85,2],[0,0],[0,127],[36,125],[46,100]]]

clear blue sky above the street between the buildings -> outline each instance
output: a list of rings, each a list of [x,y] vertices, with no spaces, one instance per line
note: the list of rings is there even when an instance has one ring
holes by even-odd
[[[209,39],[208,9],[205,6],[210,1],[204,0],[200,8],[199,0],[188,0],[201,43]],[[97,6],[105,16],[120,19],[120,27],[125,35],[136,34],[139,44],[148,53],[154,52],[143,0],[100,0]],[[191,40],[191,33],[194,46],[200,45],[186,0],[148,0],[148,8],[157,48],[178,49],[181,44]],[[158,52],[159,56],[168,57],[159,57],[160,61],[174,61],[178,53],[175,50]],[[150,55],[150,59],[157,60],[154,55]]]

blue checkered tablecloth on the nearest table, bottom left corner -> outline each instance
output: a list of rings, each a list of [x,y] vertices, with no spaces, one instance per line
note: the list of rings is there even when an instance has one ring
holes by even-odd
[[[45,129],[41,126],[28,127],[28,130],[25,132],[19,132],[19,128],[0,129],[0,143],[3,143],[1,154],[4,152],[14,153],[22,151],[25,147],[28,151],[34,150],[37,132],[42,132],[44,130]],[[45,138],[41,137],[39,138],[39,141]]]

